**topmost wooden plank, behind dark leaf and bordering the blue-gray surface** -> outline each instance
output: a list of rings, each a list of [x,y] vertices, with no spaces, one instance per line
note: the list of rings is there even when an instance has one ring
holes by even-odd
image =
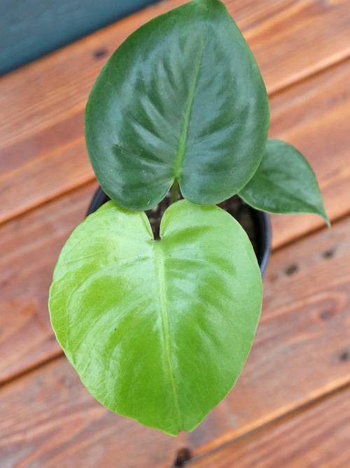
[[[0,222],[92,180],[83,112],[94,79],[134,29],[183,3],[162,1],[0,79]],[[225,3],[269,92],[349,54],[349,1]]]

